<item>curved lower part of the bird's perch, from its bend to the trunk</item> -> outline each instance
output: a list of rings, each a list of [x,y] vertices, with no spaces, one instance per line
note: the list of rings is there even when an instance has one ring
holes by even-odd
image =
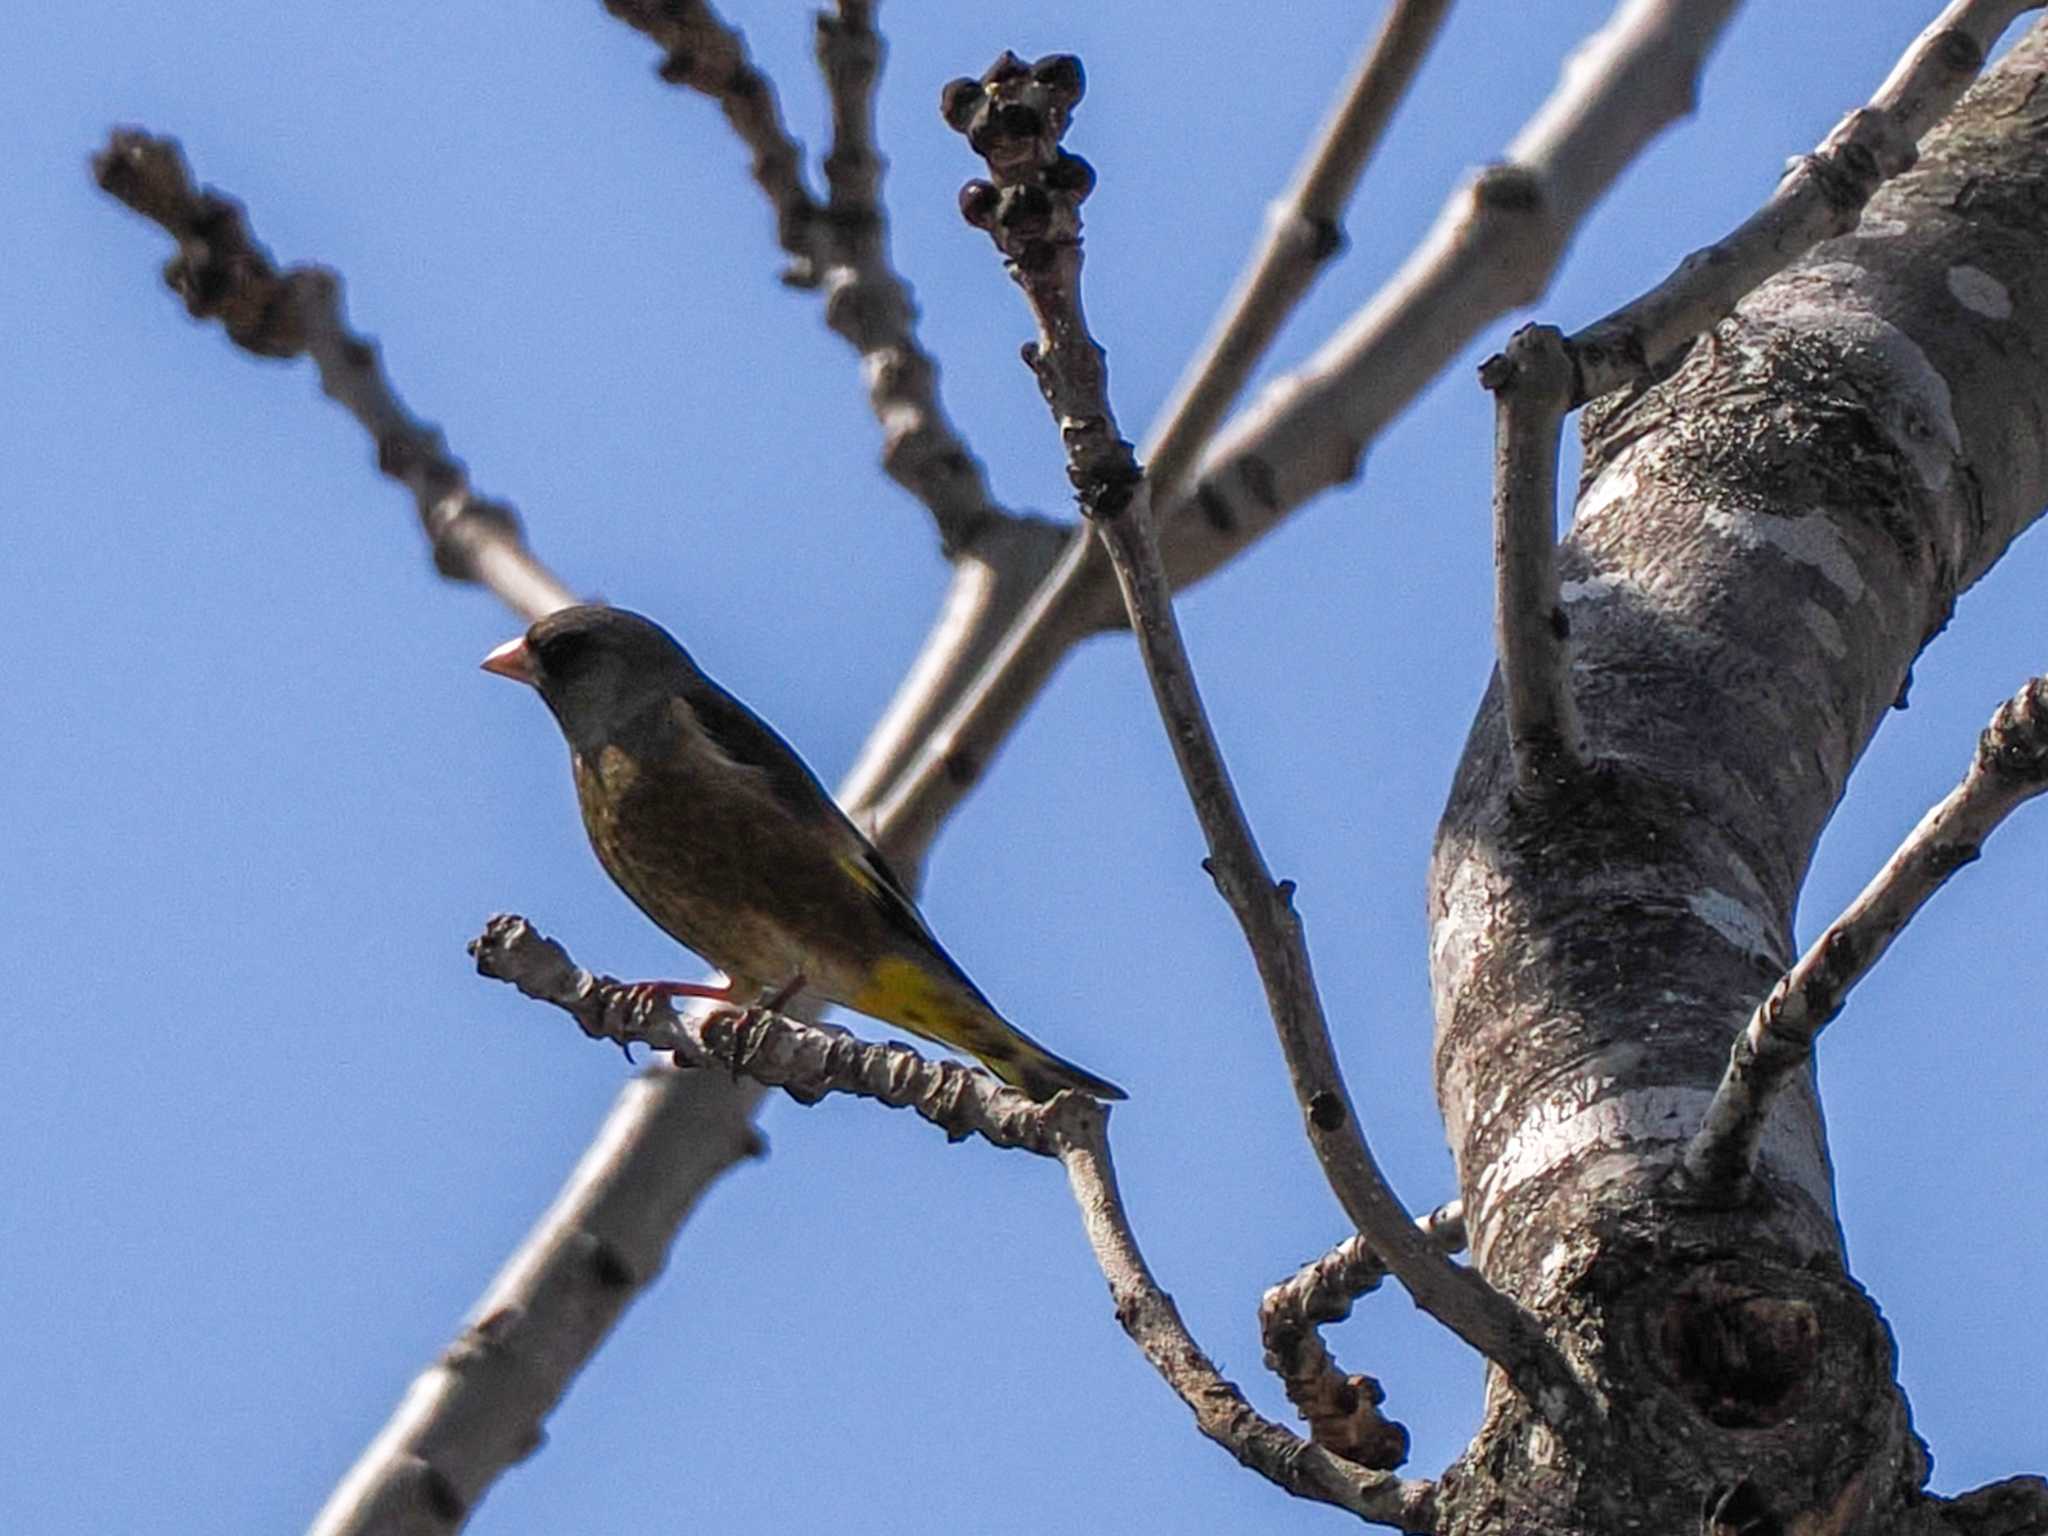
[[[1362,1520],[1397,1530],[1436,1528],[1436,1485],[1393,1477],[1348,1462],[1323,1446],[1260,1415],[1223,1378],[1202,1346],[1159,1288],[1116,1188],[1102,1106],[1079,1094],[1065,1094],[1051,1110],[1059,1161],[1081,1208],[1087,1245],[1110,1282],[1116,1321],[1139,1346],[1153,1370],[1194,1411],[1196,1427],[1229,1450],[1243,1466],[1288,1493],[1350,1509]]]

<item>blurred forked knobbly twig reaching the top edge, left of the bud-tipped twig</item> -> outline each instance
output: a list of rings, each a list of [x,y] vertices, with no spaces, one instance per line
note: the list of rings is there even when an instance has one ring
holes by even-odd
[[[874,86],[883,39],[872,4],[840,0],[817,16],[817,63],[831,102],[825,203],[803,180],[803,150],[776,106],[774,86],[745,39],[705,0],[606,0],[606,8],[664,49],[662,78],[719,102],[754,152],[754,180],[776,211],[791,258],[784,281],[821,289],[825,324],[860,356],[868,406],[883,428],[883,469],[915,496],[948,559],[991,528],[1032,522],[1004,508],[987,471],[938,399],[938,365],[918,340],[918,305],[889,258],[881,201],[885,160],[874,147]]]

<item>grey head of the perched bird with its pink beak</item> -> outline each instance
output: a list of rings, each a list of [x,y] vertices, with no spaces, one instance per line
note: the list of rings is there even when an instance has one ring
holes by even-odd
[[[580,752],[702,680],[666,629],[602,604],[557,608],[483,657],[483,670],[532,684]]]

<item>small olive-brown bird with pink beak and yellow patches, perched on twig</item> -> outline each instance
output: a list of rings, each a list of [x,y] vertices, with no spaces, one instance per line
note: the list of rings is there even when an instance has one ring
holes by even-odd
[[[604,872],[725,973],[643,989],[735,1008],[809,993],[965,1051],[1034,1100],[1124,1098],[995,1012],[795,748],[651,618],[559,608],[483,670],[553,711]]]

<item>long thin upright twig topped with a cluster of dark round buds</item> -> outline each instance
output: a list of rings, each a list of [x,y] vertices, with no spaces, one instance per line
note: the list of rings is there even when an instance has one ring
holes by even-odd
[[[981,80],[946,86],[946,121],[989,166],[989,180],[963,188],[961,209],[969,223],[989,231],[1030,303],[1038,340],[1024,348],[1024,360],[1059,424],[1081,510],[1108,549],[1159,717],[1208,840],[1206,868],[1245,932],[1309,1141],[1337,1200],[1386,1255],[1417,1307],[1499,1364],[1534,1401],[1563,1411],[1575,1401],[1575,1378],[1534,1319],[1438,1251],[1372,1159],[1329,1042],[1292,883],[1276,883],[1266,868],[1202,709],[1151,532],[1147,487],[1116,430],[1102,346],[1081,311],[1081,201],[1094,172],[1059,147],[1081,90],[1079,61],[1061,53],[1036,63],[1004,53]],[[1540,1395],[1542,1389],[1554,1391]]]

